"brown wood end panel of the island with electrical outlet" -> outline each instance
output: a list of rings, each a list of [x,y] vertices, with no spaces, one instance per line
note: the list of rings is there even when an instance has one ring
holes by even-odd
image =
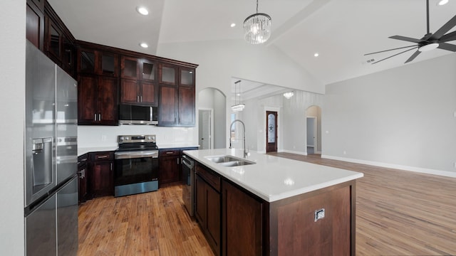
[[[271,203],[271,255],[355,255],[354,186]]]

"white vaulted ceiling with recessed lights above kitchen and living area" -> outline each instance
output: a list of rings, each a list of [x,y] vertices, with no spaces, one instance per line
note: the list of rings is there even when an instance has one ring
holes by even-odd
[[[48,1],[77,39],[152,55],[165,43],[242,40],[242,22],[256,9],[255,0]],[[141,16],[137,6],[145,6],[150,14]],[[259,0],[259,12],[272,18],[266,46],[279,48],[323,84],[455,54],[435,49],[404,64],[412,50],[375,65],[368,60],[400,50],[363,55],[413,44],[388,36],[422,38],[425,0]],[[430,32],[455,15],[456,0],[444,6],[430,0]],[[149,48],[140,48],[140,42]]]

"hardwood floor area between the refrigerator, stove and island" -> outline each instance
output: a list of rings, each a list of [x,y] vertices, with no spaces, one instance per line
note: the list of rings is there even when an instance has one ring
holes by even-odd
[[[105,196],[79,208],[78,255],[213,255],[187,214],[180,184]]]

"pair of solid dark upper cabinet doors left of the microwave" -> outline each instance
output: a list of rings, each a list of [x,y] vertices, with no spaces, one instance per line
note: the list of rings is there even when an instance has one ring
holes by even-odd
[[[78,124],[118,125],[118,79],[79,75]]]

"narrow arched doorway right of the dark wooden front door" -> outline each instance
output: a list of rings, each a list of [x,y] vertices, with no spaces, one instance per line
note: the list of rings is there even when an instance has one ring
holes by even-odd
[[[321,154],[321,107],[306,110],[306,153]]]

